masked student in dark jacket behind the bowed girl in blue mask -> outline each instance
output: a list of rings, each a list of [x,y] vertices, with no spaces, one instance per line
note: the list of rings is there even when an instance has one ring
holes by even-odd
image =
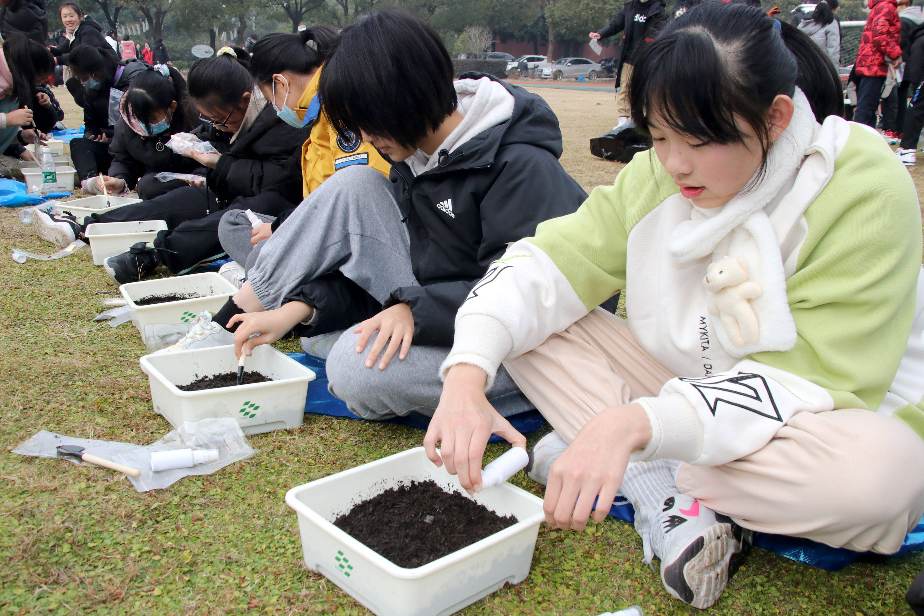
[[[136,77],[153,70],[140,60],[119,60],[108,43],[103,45],[77,45],[69,54],[74,78],[68,79],[67,90],[83,102],[83,138],[70,142],[81,185],[109,169],[113,160],[109,141],[116,131],[120,97]]]

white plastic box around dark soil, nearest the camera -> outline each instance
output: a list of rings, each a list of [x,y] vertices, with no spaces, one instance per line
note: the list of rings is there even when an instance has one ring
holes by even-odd
[[[437,468],[423,447],[390,455],[286,493],[298,513],[305,564],[379,616],[444,616],[529,575],[541,499],[509,483],[471,498],[519,522],[467,548],[417,567],[399,567],[332,524],[353,505],[412,479],[432,479],[467,496],[455,475]]]

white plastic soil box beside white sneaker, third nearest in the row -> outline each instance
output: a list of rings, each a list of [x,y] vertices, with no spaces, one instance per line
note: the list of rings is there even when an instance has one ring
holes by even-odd
[[[188,323],[194,320],[202,310],[220,310],[225,306],[228,296],[237,293],[237,287],[216,272],[190,273],[173,278],[143,280],[140,283],[123,284],[118,287],[118,290],[128,300],[129,308],[134,310],[135,316],[132,317],[131,322],[138,328],[141,339],[145,341],[150,351],[169,346],[169,344],[149,344],[154,326],[179,324],[188,326]],[[178,299],[174,302],[149,306],[139,306],[135,303],[136,299],[174,294],[196,294],[201,297]]]

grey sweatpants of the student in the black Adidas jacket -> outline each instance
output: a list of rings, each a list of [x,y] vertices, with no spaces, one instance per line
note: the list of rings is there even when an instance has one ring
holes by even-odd
[[[243,220],[247,220],[246,215]],[[392,184],[369,167],[353,165],[327,178],[256,249],[248,248],[249,223],[245,226],[240,215],[228,212],[222,225],[228,237],[237,238],[229,241],[225,250],[237,260],[239,248],[240,258],[247,263],[250,285],[268,310],[279,308],[306,277],[335,270],[382,303],[398,287],[418,285],[411,272],[407,231]],[[224,236],[222,239],[224,246]],[[414,344],[407,357],[398,359],[395,355],[384,370],[378,368],[378,362],[366,368],[366,356],[376,335],[363,353],[357,353],[359,334],[353,329],[340,336],[327,357],[330,392],[367,419],[404,416],[413,411],[432,416],[443,391],[437,373],[449,349]],[[498,371],[488,399],[504,416],[534,408],[504,369]]]

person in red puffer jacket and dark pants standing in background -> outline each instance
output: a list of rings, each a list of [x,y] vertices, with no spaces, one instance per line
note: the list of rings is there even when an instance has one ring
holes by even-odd
[[[896,0],[869,0],[869,17],[863,28],[855,68],[860,78],[854,121],[876,127],[876,107],[890,66],[902,66],[902,25]]]

